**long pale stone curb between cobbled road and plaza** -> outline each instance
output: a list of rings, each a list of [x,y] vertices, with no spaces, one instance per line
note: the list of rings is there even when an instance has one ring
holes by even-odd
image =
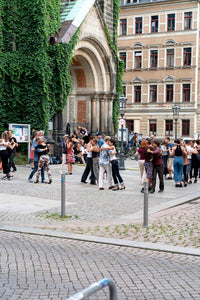
[[[85,234],[74,234],[74,233],[62,232],[62,231],[55,232],[54,230],[49,230],[49,229],[0,225],[0,231],[24,233],[24,234],[55,237],[55,238],[64,238],[64,239],[71,239],[77,241],[99,243],[99,244],[106,244],[106,245],[113,245],[113,246],[120,246],[120,247],[130,247],[130,248],[137,248],[137,249],[144,249],[144,250],[169,252],[174,254],[200,256],[200,249],[195,249],[195,248],[169,246],[165,244],[159,244],[159,243],[155,244],[149,242],[133,242],[129,240],[104,238],[104,237],[97,237],[97,236],[85,235]]]

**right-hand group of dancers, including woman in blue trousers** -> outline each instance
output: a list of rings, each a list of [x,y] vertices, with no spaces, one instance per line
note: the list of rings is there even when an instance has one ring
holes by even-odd
[[[148,182],[149,192],[155,192],[157,175],[159,193],[164,191],[164,177],[168,180],[174,178],[175,187],[187,187],[197,183],[198,175],[200,177],[200,139],[187,142],[175,139],[172,144],[170,137],[161,143],[151,137],[138,142],[135,155],[139,156],[142,193],[145,181]]]

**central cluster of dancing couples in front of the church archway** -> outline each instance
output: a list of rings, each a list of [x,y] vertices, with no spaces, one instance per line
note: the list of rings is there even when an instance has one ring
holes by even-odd
[[[72,164],[80,162],[86,165],[81,177],[82,183],[87,183],[89,177],[90,184],[98,185],[99,190],[104,190],[103,179],[107,176],[109,189],[113,191],[125,189],[119,173],[115,140],[109,136],[103,139],[99,132],[91,136],[85,128],[78,127],[78,129],[79,132],[74,131],[71,137],[68,135],[63,137],[61,174],[65,163],[68,165],[65,174],[72,175]]]

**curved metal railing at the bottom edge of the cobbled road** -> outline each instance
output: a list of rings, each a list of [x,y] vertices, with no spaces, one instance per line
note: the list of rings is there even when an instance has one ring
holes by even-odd
[[[102,290],[105,287],[109,287],[110,291],[110,300],[118,300],[117,298],[117,289],[112,281],[112,279],[104,278],[99,280],[98,282],[93,283],[90,285],[88,288],[82,290],[81,292],[78,292],[74,294],[73,296],[67,298],[66,300],[81,300],[81,299],[86,299],[92,294],[96,293],[99,290]]]

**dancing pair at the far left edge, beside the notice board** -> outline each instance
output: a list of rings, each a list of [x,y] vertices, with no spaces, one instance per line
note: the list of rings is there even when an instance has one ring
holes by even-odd
[[[14,157],[18,143],[13,137],[12,131],[4,131],[0,138],[0,158],[3,169],[2,180],[10,180],[13,178],[13,172],[17,171],[14,163]],[[12,169],[12,171],[11,171]]]

